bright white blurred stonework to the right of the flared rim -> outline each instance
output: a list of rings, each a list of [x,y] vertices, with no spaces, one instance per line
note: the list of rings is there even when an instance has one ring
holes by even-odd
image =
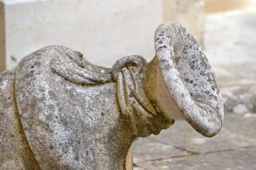
[[[218,78],[225,112],[256,112],[255,27],[255,10],[206,16],[205,53]],[[243,109],[237,110],[241,105]]]

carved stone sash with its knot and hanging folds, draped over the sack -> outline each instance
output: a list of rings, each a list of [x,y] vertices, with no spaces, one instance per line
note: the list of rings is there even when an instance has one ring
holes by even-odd
[[[116,81],[122,116],[131,124],[134,135],[147,137],[152,133],[159,134],[162,129],[167,129],[174,123],[174,120],[164,117],[161,111],[156,111],[143,89],[140,71],[147,63],[143,57],[123,57],[110,69],[95,66],[84,57],[81,59],[81,53],[70,50],[63,52],[58,48],[56,50],[62,55],[52,60],[52,69],[67,80],[83,85]]]

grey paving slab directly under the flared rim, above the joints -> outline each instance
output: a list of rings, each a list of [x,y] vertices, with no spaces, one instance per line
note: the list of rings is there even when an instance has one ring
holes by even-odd
[[[204,138],[204,136],[193,131],[187,122],[176,121],[171,129],[162,131],[158,136],[149,136],[148,138],[157,143],[170,145],[191,153],[233,150],[236,148],[255,146],[255,121],[256,117],[243,117],[243,115],[228,114],[225,116],[223,128],[219,134],[213,138]]]

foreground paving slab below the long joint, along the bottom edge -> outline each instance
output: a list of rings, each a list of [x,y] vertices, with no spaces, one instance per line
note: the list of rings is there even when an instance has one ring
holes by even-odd
[[[175,159],[141,162],[135,166],[155,170],[254,170],[256,167],[256,148],[243,148],[230,152],[208,153]]]

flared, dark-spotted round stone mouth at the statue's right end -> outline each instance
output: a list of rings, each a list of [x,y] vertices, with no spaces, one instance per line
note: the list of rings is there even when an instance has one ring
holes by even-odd
[[[155,46],[156,57],[146,68],[154,71],[145,71],[145,82],[151,80],[145,86],[154,87],[163,77],[169,100],[174,101],[189,124],[204,136],[217,134],[223,124],[223,101],[216,77],[198,43],[184,27],[165,22],[157,27]],[[157,95],[156,91],[151,92],[152,96]]]

